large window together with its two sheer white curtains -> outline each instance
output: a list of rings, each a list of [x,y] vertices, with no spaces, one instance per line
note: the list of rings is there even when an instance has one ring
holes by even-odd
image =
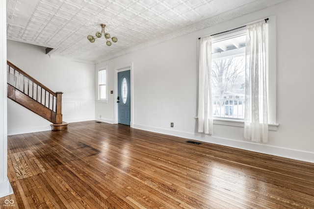
[[[278,126],[276,17],[199,39],[198,132],[239,126],[245,139],[266,142]]]

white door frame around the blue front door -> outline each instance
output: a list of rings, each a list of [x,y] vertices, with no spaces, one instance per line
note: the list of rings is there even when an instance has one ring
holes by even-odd
[[[131,118],[130,118],[130,127],[133,128],[133,62],[126,63],[123,65],[119,65],[114,67],[114,119],[113,123],[118,123],[118,103],[117,103],[117,97],[118,97],[118,72],[127,71],[130,70],[130,86],[131,86]]]

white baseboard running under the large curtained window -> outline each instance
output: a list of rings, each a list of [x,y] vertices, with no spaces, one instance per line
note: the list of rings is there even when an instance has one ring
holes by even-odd
[[[143,126],[139,124],[133,124],[133,128],[141,129],[144,131],[151,131],[155,133],[181,137],[184,139],[194,139],[198,141],[219,144],[219,145],[234,147],[238,149],[243,149],[243,150],[268,154],[268,155],[274,155],[278,157],[284,157],[284,158],[298,160],[298,161],[314,163],[314,152],[305,152],[302,150],[288,149],[284,147],[255,143],[251,141],[239,141],[239,140],[234,140],[234,139],[211,137],[209,135],[205,135],[201,133],[187,133],[187,132],[172,131],[168,129],[161,129],[161,128],[156,128],[156,127],[151,127],[151,126]]]

